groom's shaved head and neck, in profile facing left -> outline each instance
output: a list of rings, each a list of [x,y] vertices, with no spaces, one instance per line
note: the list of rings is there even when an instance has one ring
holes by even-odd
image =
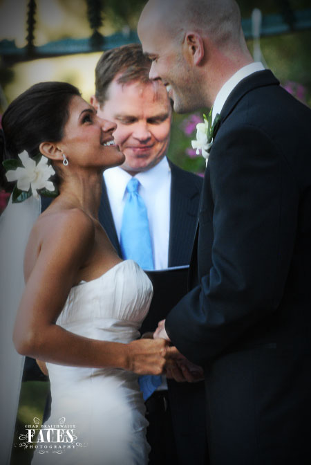
[[[174,109],[210,106],[220,87],[252,62],[234,0],[149,0],[138,22],[149,77],[169,84]]]

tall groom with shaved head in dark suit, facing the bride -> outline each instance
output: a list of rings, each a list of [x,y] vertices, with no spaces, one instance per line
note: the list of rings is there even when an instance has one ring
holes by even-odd
[[[212,465],[310,464],[311,111],[253,62],[233,0],[149,0],[138,35],[174,109],[220,118],[190,291],[157,332],[205,368]]]

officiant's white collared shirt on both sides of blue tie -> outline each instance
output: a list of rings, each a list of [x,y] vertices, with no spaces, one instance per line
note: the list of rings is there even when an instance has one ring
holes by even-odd
[[[131,177],[131,174],[118,166],[104,171],[104,180],[119,242],[122,215],[128,195],[126,185]],[[139,194],[148,212],[155,269],[167,268],[171,212],[171,169],[167,157],[164,156],[160,163],[151,170],[135,174],[135,178],[140,181]]]

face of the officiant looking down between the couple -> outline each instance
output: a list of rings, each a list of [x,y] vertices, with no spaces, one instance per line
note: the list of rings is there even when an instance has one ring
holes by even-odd
[[[130,174],[150,170],[167,153],[171,104],[162,84],[111,82],[97,115],[117,123],[113,136],[125,155],[121,166]],[[95,103],[94,103],[95,104]],[[95,104],[96,107],[96,104]]]

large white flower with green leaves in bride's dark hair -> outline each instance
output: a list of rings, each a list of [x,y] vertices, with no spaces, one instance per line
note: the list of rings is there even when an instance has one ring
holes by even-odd
[[[12,192],[12,203],[23,202],[33,195],[36,199],[39,194],[48,197],[56,197],[57,189],[50,176],[55,174],[53,167],[48,164],[46,156],[30,158],[24,150],[19,158],[5,160],[2,162],[6,168],[6,179],[9,182],[17,181]]]

